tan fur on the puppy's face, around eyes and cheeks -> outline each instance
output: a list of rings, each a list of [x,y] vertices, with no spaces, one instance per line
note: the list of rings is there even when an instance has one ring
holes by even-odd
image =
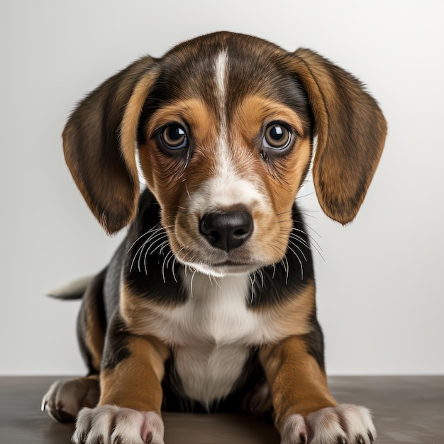
[[[269,206],[266,211],[259,206],[249,209],[255,220],[257,241],[255,243],[253,238],[250,250],[245,252],[245,256],[251,256],[259,248],[267,264],[279,261],[284,255],[291,230],[289,211],[311,155],[309,138],[296,137],[294,150],[279,163],[282,179],[274,179],[262,162],[256,144],[264,121],[279,120],[288,121],[300,134],[304,132],[303,123],[292,109],[261,95],[247,96],[231,116],[231,126],[227,129],[230,155],[239,177],[252,181],[267,195]],[[195,152],[186,169],[173,166],[176,161],[162,154],[152,140],[156,128],[173,121],[187,121],[193,128]],[[154,113],[146,128],[147,143],[139,147],[140,165],[148,187],[162,206],[162,224],[170,227],[167,233],[172,250],[182,261],[190,260],[198,249],[193,246],[199,238],[196,226],[202,214],[190,214],[184,209],[187,209],[189,196],[217,170],[216,128],[216,115],[208,106],[198,99],[185,99]],[[174,171],[174,174],[165,174],[166,171]]]

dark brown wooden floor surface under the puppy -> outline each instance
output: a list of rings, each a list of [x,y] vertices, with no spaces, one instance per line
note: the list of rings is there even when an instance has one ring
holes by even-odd
[[[0,377],[0,444],[69,444],[74,426],[40,411],[55,377]],[[444,376],[331,377],[340,402],[374,416],[377,443],[444,444]],[[274,429],[248,416],[164,414],[165,444],[279,444]]]

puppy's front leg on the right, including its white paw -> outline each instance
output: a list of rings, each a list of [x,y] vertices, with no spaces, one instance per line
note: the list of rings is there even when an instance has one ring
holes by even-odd
[[[336,403],[322,362],[309,353],[309,340],[294,336],[260,351],[281,444],[372,443],[376,431],[370,412]]]

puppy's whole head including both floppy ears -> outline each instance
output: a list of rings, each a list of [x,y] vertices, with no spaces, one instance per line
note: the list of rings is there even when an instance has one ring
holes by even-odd
[[[177,259],[252,272],[284,256],[317,135],[313,181],[325,213],[355,217],[386,123],[357,79],[311,50],[215,33],[143,57],[92,91],[63,142],[105,230],[133,221],[138,165]]]

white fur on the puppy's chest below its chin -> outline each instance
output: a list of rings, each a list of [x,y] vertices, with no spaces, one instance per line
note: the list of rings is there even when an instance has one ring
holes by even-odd
[[[172,346],[187,396],[208,405],[231,392],[252,345],[276,338],[270,322],[248,309],[248,275],[210,279],[195,273],[183,279],[189,300],[157,313],[157,335]]]

